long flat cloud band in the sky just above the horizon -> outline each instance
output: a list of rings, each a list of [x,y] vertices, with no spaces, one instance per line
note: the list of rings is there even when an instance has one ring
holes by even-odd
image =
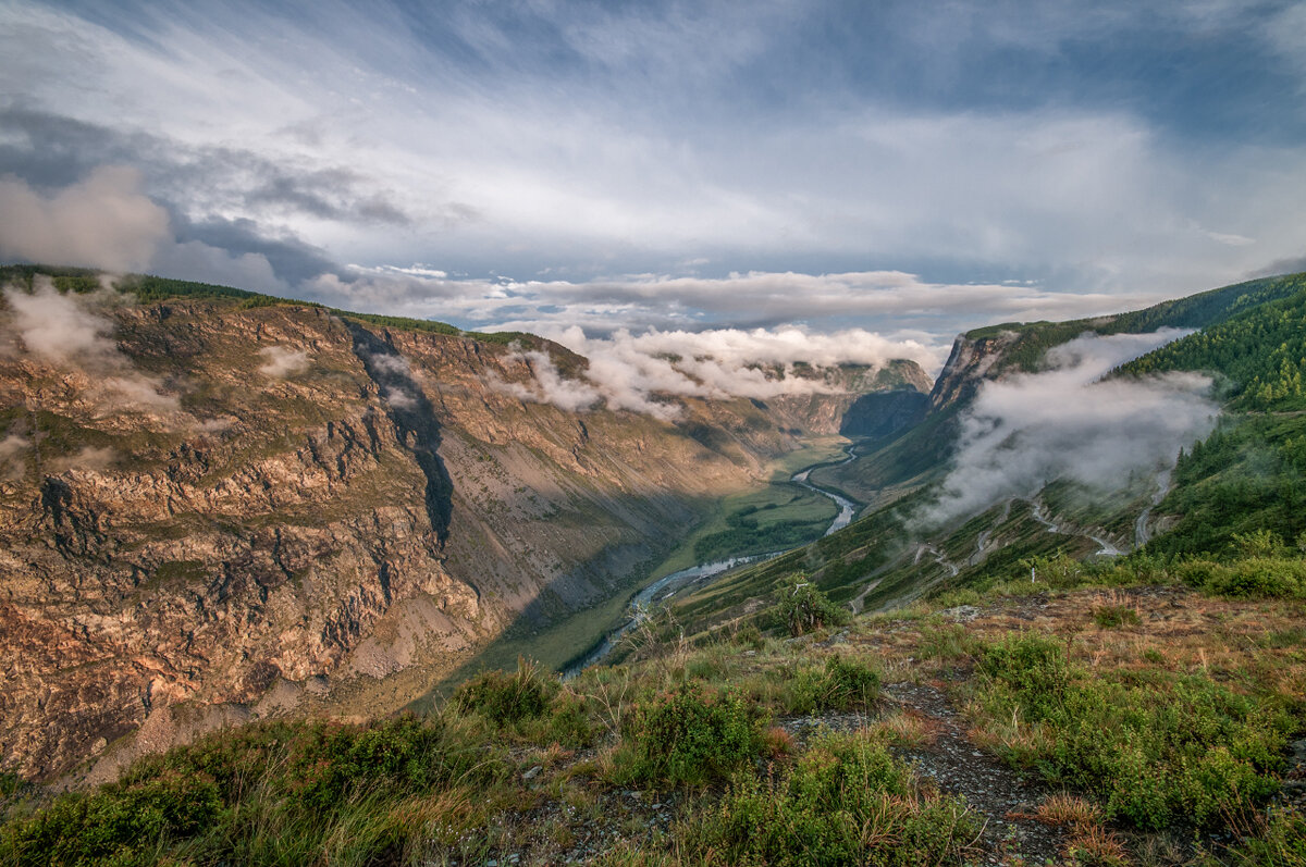
[[[588,334],[620,329],[700,332],[717,324],[777,329],[806,324],[840,332],[876,323],[878,332],[930,332],[931,343],[978,323],[1072,319],[1118,312],[1156,296],[1051,292],[1029,285],[934,283],[895,270],[803,274],[747,272],[720,278],[632,274],[586,282],[456,278],[428,269],[354,269],[326,274],[303,291],[354,309],[385,309],[481,330],[556,337],[573,325]],[[579,350],[577,350],[579,351]],[[946,347],[931,346],[938,356]],[[930,363],[921,355],[909,355]],[[942,358],[936,358],[942,363]]]

